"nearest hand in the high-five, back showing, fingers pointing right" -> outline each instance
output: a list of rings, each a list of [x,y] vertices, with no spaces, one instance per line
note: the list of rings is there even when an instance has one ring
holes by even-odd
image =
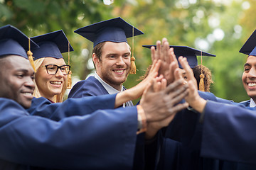
[[[149,84],[145,89],[140,105],[146,114],[148,122],[163,120],[181,111],[188,106],[187,103],[179,103],[187,94],[187,85],[183,85],[183,79],[174,81],[161,91],[154,91],[154,85]]]

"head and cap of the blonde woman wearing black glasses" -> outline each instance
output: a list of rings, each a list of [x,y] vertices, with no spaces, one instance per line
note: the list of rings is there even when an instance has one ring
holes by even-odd
[[[61,53],[73,51],[63,30],[31,38],[40,48],[33,50],[36,66],[36,89],[33,96],[48,98],[52,103],[62,102],[67,89],[70,66]],[[68,47],[70,46],[70,47]]]

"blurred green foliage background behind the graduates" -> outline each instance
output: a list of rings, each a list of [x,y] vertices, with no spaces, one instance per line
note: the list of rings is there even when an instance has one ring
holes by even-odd
[[[137,74],[129,75],[124,86],[137,84],[151,64],[150,50],[142,45],[154,45],[166,37],[170,45],[217,55],[203,57],[215,82],[211,91],[221,98],[244,101],[248,96],[241,76],[246,56],[239,50],[255,30],[256,21],[251,19],[255,5],[254,0],[114,0],[110,5],[102,0],[0,0],[0,26],[11,24],[28,36],[63,29],[75,50],[70,53],[73,77],[85,79],[93,72],[88,67],[92,43],[73,31],[121,16],[144,32],[134,38]],[[68,61],[68,55],[63,56]]]

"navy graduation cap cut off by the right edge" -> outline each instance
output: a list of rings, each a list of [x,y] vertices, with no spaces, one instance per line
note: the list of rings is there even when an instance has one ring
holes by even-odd
[[[242,45],[240,49],[241,53],[245,55],[253,55],[256,56],[256,30],[250,35],[250,38]]]

